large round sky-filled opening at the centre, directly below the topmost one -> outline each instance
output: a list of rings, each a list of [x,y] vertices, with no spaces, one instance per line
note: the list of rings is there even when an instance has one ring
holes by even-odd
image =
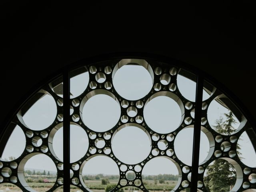
[[[150,139],[146,132],[136,126],[122,128],[112,138],[114,155],[122,162],[136,164],[150,153]]]

